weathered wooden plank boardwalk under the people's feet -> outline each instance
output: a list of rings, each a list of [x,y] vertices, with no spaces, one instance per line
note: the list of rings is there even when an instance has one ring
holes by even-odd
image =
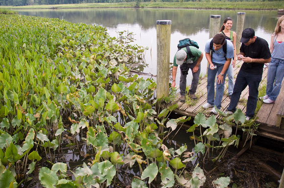
[[[236,66],[234,68],[234,78],[236,80],[237,73],[242,65],[242,61],[237,60]],[[268,68],[263,69],[262,80],[260,82],[259,89],[266,84],[266,77],[267,77],[267,70]],[[226,77],[227,78],[227,77]],[[177,94],[177,97],[174,99],[172,104],[178,104],[178,108],[174,110],[175,113],[182,115],[182,116],[190,116],[194,118],[197,113],[202,112],[206,117],[210,117],[213,114],[210,113],[212,108],[204,109],[202,107],[203,104],[207,102],[207,77],[203,77],[199,80],[199,84],[197,86],[197,90],[195,95],[198,97],[197,101],[192,102],[190,104],[186,99],[186,103],[180,102],[180,94]],[[246,103],[247,98],[249,95],[249,88],[248,86],[243,90],[239,103],[237,104],[237,109],[241,109],[243,113],[246,111]],[[225,82],[225,90],[222,99],[222,107],[221,110],[224,111],[230,104],[230,98],[228,96],[228,81]],[[165,108],[166,106],[161,106]],[[279,115],[282,113],[284,117],[284,87],[279,94],[279,97],[276,100],[275,104],[262,104],[259,113],[257,116],[259,119],[256,121],[259,126],[259,130],[257,132],[258,135],[273,138],[275,140],[279,140],[284,142],[284,127],[282,126],[282,116]],[[278,115],[277,115],[278,114]],[[215,115],[217,119],[219,119],[220,115]],[[221,118],[221,117],[220,117]],[[278,124],[276,126],[276,122]],[[283,121],[284,124],[284,121]]]

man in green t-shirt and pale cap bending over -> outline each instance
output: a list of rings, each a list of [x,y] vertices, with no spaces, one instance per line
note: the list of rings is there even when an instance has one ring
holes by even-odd
[[[182,48],[181,50],[177,51],[174,56],[173,60],[173,67],[172,67],[172,87],[175,87],[175,78],[177,67],[180,65],[181,69],[181,77],[180,77],[180,94],[181,94],[181,102],[184,103],[185,93],[186,93],[186,86],[187,86],[187,75],[189,72],[189,68],[192,71],[192,81],[191,87],[189,89],[189,97],[193,100],[196,100],[197,97],[195,96],[196,88],[198,85],[199,75],[200,75],[200,68],[201,68],[201,61],[203,59],[203,53],[194,46],[189,46],[191,56],[188,54],[188,50],[186,47]]]

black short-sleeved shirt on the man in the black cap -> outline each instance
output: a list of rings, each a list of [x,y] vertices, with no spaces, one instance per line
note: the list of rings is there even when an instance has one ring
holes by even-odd
[[[257,37],[256,41],[248,46],[242,43],[239,50],[245,54],[245,57],[250,57],[252,59],[267,60],[271,58],[268,43],[260,37]],[[263,65],[263,63],[242,63],[240,69],[251,74],[262,75]]]

